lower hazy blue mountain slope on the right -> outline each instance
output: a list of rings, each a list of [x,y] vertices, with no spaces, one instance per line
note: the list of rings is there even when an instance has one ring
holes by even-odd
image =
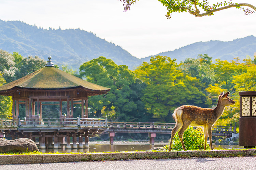
[[[176,62],[180,63],[184,61],[185,58],[196,58],[198,54],[208,54],[213,58],[213,61],[217,58],[221,60],[233,60],[235,57],[244,59],[246,55],[253,58],[256,52],[256,37],[253,35],[247,36],[240,39],[235,39],[233,41],[208,41],[208,42],[198,42],[194,44],[187,45],[185,47],[176,49],[174,51],[162,52],[157,55],[168,56],[171,58],[176,58]],[[152,56],[157,56],[152,55]],[[149,62],[152,56],[148,56],[143,60]],[[242,61],[242,60],[241,60]]]

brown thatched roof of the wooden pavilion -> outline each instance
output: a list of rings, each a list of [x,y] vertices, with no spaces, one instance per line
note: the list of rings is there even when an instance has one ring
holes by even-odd
[[[84,81],[55,67],[44,67],[23,78],[0,86],[0,95],[4,95],[6,92],[16,88],[29,90],[82,88],[85,91],[94,91],[100,94],[110,90],[110,88]]]

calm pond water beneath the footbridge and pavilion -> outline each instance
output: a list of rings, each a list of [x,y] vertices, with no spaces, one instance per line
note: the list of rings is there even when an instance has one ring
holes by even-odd
[[[120,151],[146,151],[153,147],[163,147],[169,145],[169,143],[155,143],[155,145],[150,145],[148,143],[142,142],[127,142],[127,143],[114,143],[114,145],[109,145],[106,143],[89,143],[89,148],[84,149],[40,149],[41,152],[61,152],[61,153],[75,153],[75,152],[120,152]],[[228,149],[228,148],[243,148],[238,145],[213,145],[214,149]]]

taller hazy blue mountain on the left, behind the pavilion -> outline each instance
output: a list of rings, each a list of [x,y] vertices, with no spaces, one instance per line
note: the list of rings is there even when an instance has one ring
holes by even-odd
[[[140,59],[94,33],[80,29],[46,30],[20,21],[0,20],[0,48],[26,57],[37,55],[44,60],[51,55],[55,64],[67,64],[75,69],[99,56],[110,58],[117,65],[127,65],[130,69],[140,63]]]

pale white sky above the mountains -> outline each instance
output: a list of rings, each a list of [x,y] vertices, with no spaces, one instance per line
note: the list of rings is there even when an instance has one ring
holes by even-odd
[[[256,6],[255,0],[232,2]],[[204,17],[174,13],[171,19],[166,18],[166,13],[166,7],[158,0],[139,0],[127,12],[118,0],[0,0],[1,20],[19,20],[44,29],[80,28],[121,46],[137,58],[199,41],[256,36],[256,14],[244,15],[240,9],[230,8]]]

